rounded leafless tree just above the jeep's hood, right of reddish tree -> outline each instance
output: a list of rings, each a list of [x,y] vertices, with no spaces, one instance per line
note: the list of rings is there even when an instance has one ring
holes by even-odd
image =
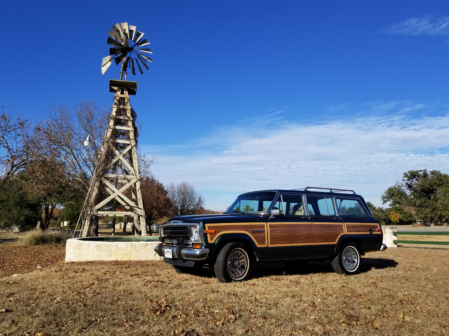
[[[170,183],[167,191],[173,204],[172,215],[194,215],[204,205],[202,195],[187,181]]]

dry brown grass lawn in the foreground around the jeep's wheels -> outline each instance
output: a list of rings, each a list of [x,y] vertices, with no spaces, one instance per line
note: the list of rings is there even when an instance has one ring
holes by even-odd
[[[449,250],[370,253],[355,276],[260,265],[230,284],[162,262],[61,262],[1,280],[0,334],[446,335],[448,286]]]

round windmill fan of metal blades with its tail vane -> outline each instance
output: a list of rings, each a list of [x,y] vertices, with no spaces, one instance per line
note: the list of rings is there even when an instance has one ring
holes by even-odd
[[[141,74],[143,74],[141,65],[145,69],[149,69],[146,63],[147,61],[151,62],[148,55],[152,52],[147,47],[150,42],[142,39],[144,33],[137,30],[136,26],[128,25],[128,22],[116,23],[109,30],[108,35],[110,37],[108,37],[107,44],[112,47],[109,48],[109,56],[104,57],[101,62],[101,74],[106,72],[112,61],[115,61],[116,65],[122,63],[120,79],[123,74],[126,76],[128,68],[131,68],[133,75],[136,74],[136,66]]]

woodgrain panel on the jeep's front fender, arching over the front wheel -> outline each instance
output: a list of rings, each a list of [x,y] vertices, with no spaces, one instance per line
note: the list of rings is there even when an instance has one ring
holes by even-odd
[[[205,224],[206,230],[215,230],[207,233],[207,241],[213,243],[225,233],[244,233],[251,237],[257,247],[268,246],[268,232],[266,223],[223,223]]]

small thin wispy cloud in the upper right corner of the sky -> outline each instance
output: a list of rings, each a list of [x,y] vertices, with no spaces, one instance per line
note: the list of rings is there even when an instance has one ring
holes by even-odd
[[[380,30],[383,34],[395,35],[447,35],[449,34],[449,16],[410,17],[405,21],[392,24]]]

